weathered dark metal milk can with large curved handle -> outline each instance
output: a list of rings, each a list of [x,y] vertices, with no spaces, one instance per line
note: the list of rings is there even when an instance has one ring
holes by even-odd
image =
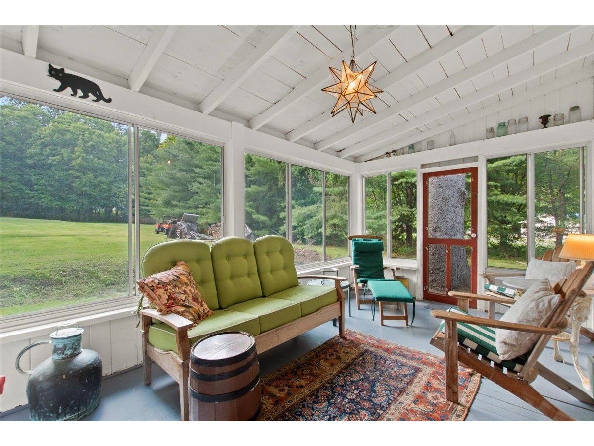
[[[61,325],[49,335],[51,340],[31,344],[18,354],[17,370],[30,375],[27,400],[31,420],[80,420],[99,404],[103,363],[96,351],[81,348],[82,334],[78,323]],[[52,344],[52,357],[32,372],[21,369],[21,356],[42,344]]]

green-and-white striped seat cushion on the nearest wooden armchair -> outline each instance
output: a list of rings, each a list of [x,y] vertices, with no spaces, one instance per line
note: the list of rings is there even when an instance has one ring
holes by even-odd
[[[457,307],[451,307],[448,311],[459,313],[460,315],[470,315],[470,313],[466,313]],[[440,331],[442,333],[445,332],[444,321],[440,323]],[[508,360],[500,359],[497,348],[495,348],[495,329],[488,326],[458,322],[458,342],[470,348],[470,350],[481,354],[481,356],[486,357],[486,359],[501,364],[514,372],[522,370],[522,367],[526,363],[525,355]]]

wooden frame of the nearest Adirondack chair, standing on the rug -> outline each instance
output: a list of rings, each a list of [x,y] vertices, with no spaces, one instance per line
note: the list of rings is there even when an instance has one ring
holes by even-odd
[[[571,384],[557,373],[552,372],[544,365],[538,362],[538,357],[544,350],[546,343],[552,335],[562,331],[567,326],[567,311],[577,296],[582,293],[582,288],[587,279],[594,270],[594,262],[587,262],[583,268],[576,269],[570,277],[557,282],[554,286],[556,294],[561,295],[561,304],[552,316],[551,322],[542,326],[525,325],[520,323],[502,322],[488,318],[478,318],[460,313],[448,312],[443,310],[432,310],[431,315],[435,318],[444,319],[444,331],[440,329],[435,332],[431,338],[432,346],[439,348],[445,353],[445,395],[449,401],[458,403],[458,362],[463,366],[476,370],[485,378],[500,385],[505,390],[510,391],[517,397],[526,401],[530,406],[544,413],[552,420],[571,421],[568,414],[555,407],[546,400],[530,383],[536,379],[539,374],[550,381],[552,384],[573,395],[577,400],[583,403],[594,404],[594,399],[587,395],[580,388]],[[489,302],[513,304],[513,299],[505,297],[482,296],[479,294],[450,292],[450,296],[457,297],[459,309],[467,311],[469,299],[486,300]],[[497,363],[492,357],[483,356],[478,351],[469,347],[459,345],[458,322],[470,323],[474,325],[504,328],[517,331],[533,332],[541,334],[535,347],[526,354],[525,363],[520,365],[520,370],[513,371],[510,363]],[[477,349],[478,350],[478,349]],[[485,352],[483,352],[485,354]],[[486,355],[486,354],[485,354]],[[513,360],[512,360],[513,361]],[[522,361],[523,362],[523,361]]]

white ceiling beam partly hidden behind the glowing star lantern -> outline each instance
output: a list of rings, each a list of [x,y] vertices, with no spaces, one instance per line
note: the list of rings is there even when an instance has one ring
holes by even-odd
[[[463,43],[469,42],[469,40],[472,40],[475,37],[487,32],[492,27],[493,26],[486,25],[467,25],[459,32],[456,32],[456,34],[453,36],[443,40],[442,42],[438,43],[438,45],[435,45],[433,48],[422,52],[418,56],[415,56],[414,58],[410,59],[408,63],[399,65],[399,67],[397,67],[391,73],[386,74],[386,76],[379,78],[374,82],[374,86],[382,90],[386,90],[387,87],[395,84],[400,79],[405,78],[410,74],[416,73],[416,71],[421,70],[422,68],[431,64],[431,62],[435,62],[442,56],[454,51],[460,45],[463,45]],[[328,110],[323,114],[313,118],[312,120],[309,120],[307,123],[299,126],[298,128],[295,128],[295,130],[287,133],[286,139],[289,141],[296,141],[299,138],[308,135],[321,125],[326,124],[331,117],[330,110]]]

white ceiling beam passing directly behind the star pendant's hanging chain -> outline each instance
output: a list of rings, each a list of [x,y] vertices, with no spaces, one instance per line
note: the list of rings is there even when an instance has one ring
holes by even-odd
[[[361,39],[359,39],[357,42],[357,54],[361,55],[368,52],[369,49],[371,49],[375,44],[381,42],[384,39],[388,39],[391,34],[393,34],[399,27],[400,25],[391,25],[386,29],[372,30],[368,34],[365,34],[365,36],[361,37]],[[275,103],[265,112],[252,118],[252,120],[249,121],[249,127],[253,128],[254,130],[258,130],[258,128],[267,124],[279,114],[286,111],[286,109],[292,106],[293,103],[303,99],[308,95],[309,92],[320,87],[322,83],[328,81],[328,66],[339,66],[343,60],[350,60],[350,55],[351,49],[347,49],[341,54],[337,55],[331,61],[327,62],[327,64],[324,64],[323,67],[318,68],[314,74],[303,80],[283,99],[279,100],[279,102]]]

